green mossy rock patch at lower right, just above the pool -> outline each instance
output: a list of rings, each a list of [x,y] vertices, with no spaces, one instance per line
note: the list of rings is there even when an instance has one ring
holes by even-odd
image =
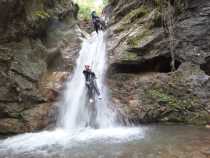
[[[210,120],[207,111],[203,109],[199,98],[196,96],[177,97],[170,93],[167,88],[151,88],[145,92],[150,104],[165,107],[165,112],[160,113],[160,121],[178,122],[187,124],[202,125]],[[157,110],[157,109],[156,109]]]

